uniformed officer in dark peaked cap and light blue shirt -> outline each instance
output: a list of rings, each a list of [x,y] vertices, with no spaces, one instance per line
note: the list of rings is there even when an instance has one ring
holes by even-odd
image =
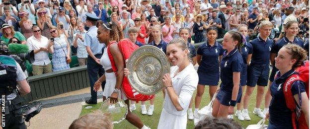
[[[100,44],[97,36],[97,21],[99,18],[94,15],[87,13],[86,14],[86,26],[89,27],[88,31],[85,34],[84,46],[86,46],[86,51],[88,53],[87,58],[87,71],[90,81],[90,93],[91,99],[86,100],[86,104],[97,104],[97,92],[93,90],[94,83],[97,80],[98,74],[102,76],[104,74],[104,69],[100,65],[100,58],[102,56],[104,44]],[[105,81],[101,83],[102,89],[104,89]]]

